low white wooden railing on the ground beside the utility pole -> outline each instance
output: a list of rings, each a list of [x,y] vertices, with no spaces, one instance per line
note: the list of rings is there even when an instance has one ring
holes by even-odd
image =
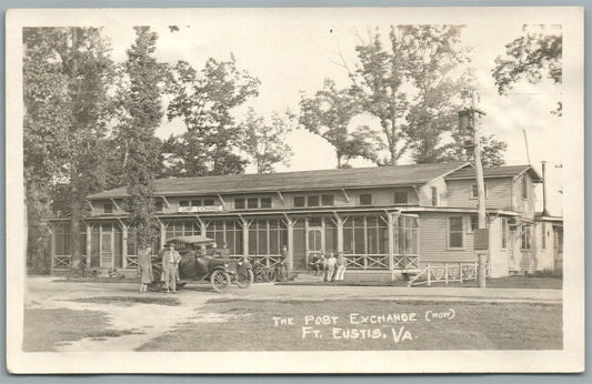
[[[428,263],[427,266],[417,274],[409,283],[412,285],[432,285],[432,283],[460,282],[476,280],[476,262],[450,262],[450,263]]]

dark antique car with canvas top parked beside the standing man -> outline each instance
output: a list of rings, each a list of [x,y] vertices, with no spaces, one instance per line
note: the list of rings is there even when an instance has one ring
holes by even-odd
[[[200,235],[179,236],[167,241],[167,244],[171,243],[181,255],[178,289],[191,282],[209,281],[214,291],[227,292],[231,284],[245,289],[253,282],[251,264],[245,260],[233,261],[221,256],[215,249],[212,249],[214,244],[212,239]],[[162,252],[152,260],[152,271],[154,281],[149,289],[160,291],[164,285]]]

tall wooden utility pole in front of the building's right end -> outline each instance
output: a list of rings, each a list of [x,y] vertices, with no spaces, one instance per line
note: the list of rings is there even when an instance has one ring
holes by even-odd
[[[473,233],[474,250],[478,259],[476,280],[480,287],[485,287],[486,279],[486,256],[489,249],[489,232],[485,215],[485,181],[483,179],[483,164],[481,162],[481,131],[479,129],[479,118],[485,112],[476,108],[476,94],[472,94],[471,108],[459,112],[461,130],[472,131],[472,146],[478,194],[478,230]]]

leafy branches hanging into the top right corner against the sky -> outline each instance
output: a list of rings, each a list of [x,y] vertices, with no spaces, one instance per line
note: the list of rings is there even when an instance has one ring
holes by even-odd
[[[505,44],[503,55],[495,58],[492,70],[500,94],[508,94],[516,82],[525,79],[532,84],[543,78],[561,84],[563,38],[561,26],[523,26],[523,36]],[[562,103],[553,112],[561,115]]]

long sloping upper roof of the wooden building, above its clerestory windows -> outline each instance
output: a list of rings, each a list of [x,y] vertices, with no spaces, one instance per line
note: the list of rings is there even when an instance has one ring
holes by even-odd
[[[334,190],[353,188],[421,185],[437,178],[445,176],[468,162],[413,164],[300,171],[264,174],[233,174],[225,176],[159,179],[154,185],[157,195],[208,195],[253,192],[288,192]],[[91,194],[90,200],[123,198],[127,188]]]

